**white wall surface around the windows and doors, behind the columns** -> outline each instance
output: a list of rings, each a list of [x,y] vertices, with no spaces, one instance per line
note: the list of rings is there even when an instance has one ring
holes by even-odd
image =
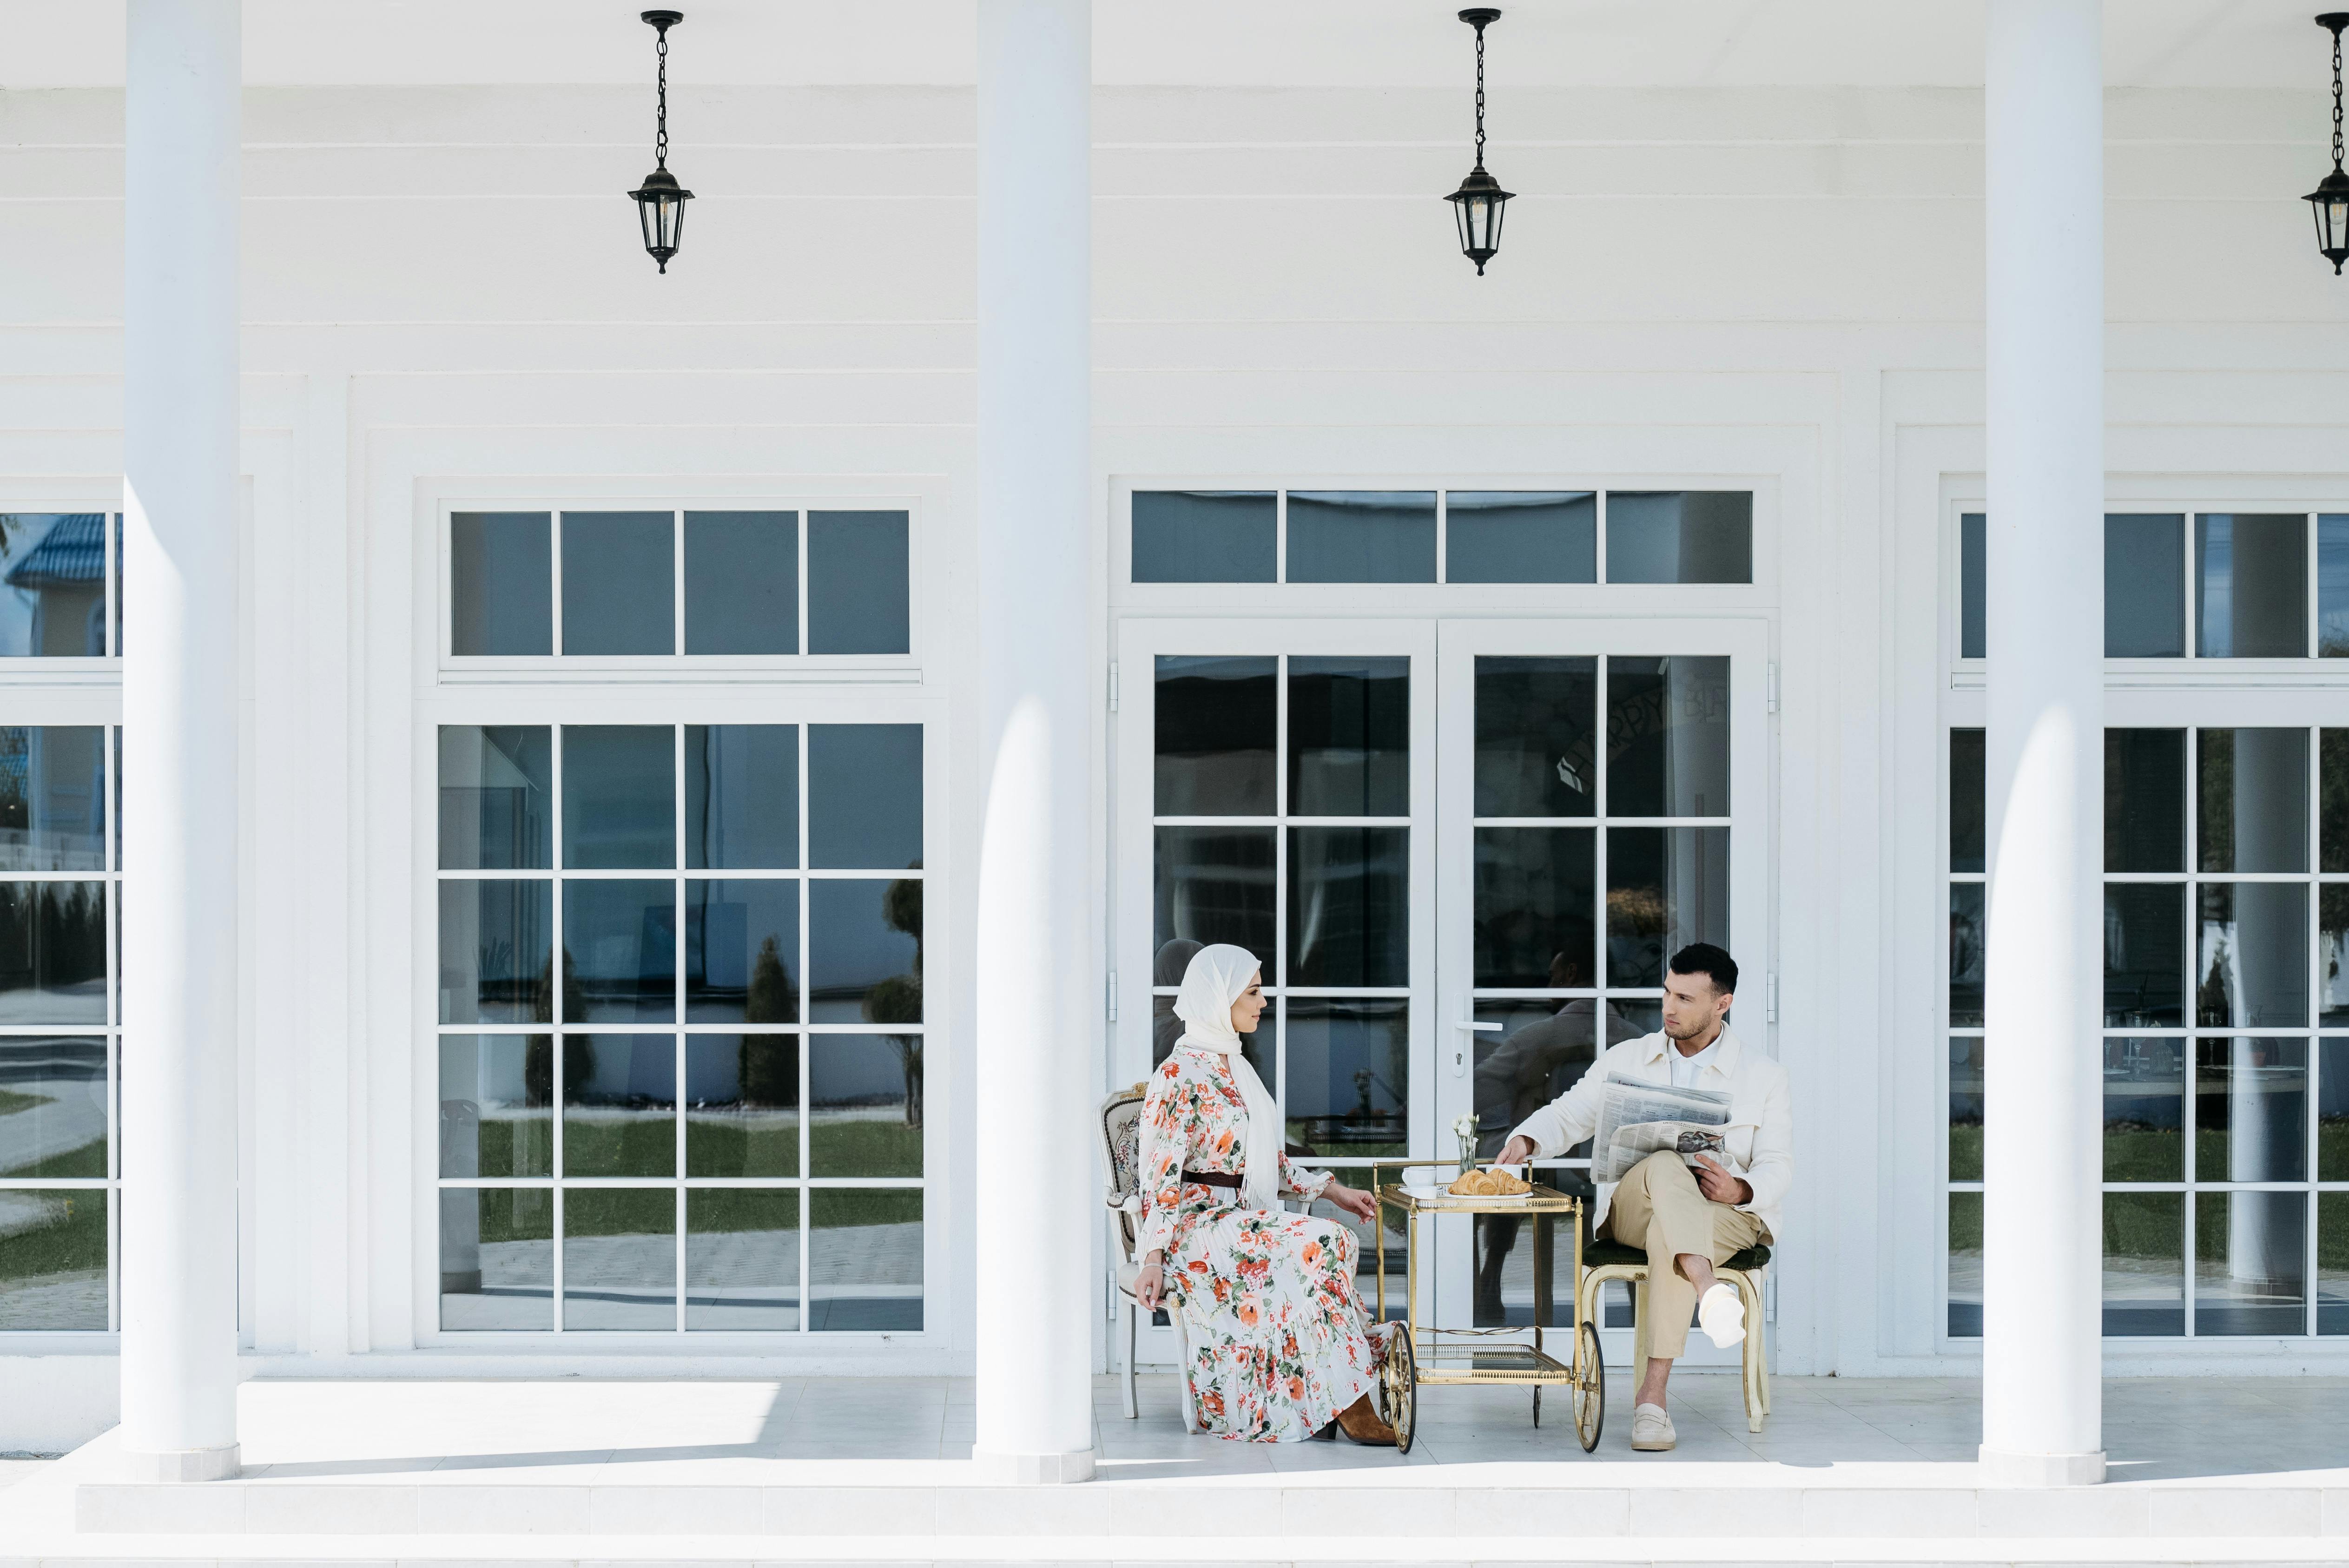
[[[686,87],[672,162],[698,200],[667,277],[620,195],[646,164],[644,99],[247,96],[242,1202],[247,1326],[272,1368],[385,1368],[420,1329],[418,528],[439,498],[921,495],[923,690],[968,756],[970,96]],[[7,505],[120,472],[120,115],[110,92],[0,94]],[[1943,1366],[1938,528],[1945,479],[1980,465],[1978,94],[1496,94],[1492,167],[1525,195],[1485,279],[1438,202],[1463,120],[1459,92],[1102,92],[1095,636],[1116,474],[1764,477],[1783,514],[1778,1049],[1802,1106],[1781,1357]],[[2116,469],[2323,474],[2349,495],[2349,289],[2295,200],[2326,129],[2316,92],[2112,96]],[[0,671],[0,721],[56,699],[28,681]],[[942,810],[951,955],[968,772]],[[949,1019],[968,1007],[956,972]],[[968,1216],[968,1096],[947,1106]],[[961,1218],[949,1235],[968,1246]],[[933,1282],[956,1326],[923,1366],[968,1366],[965,1289],[958,1251]],[[477,1364],[402,1364],[425,1361]],[[47,1387],[38,1366],[0,1361],[0,1408]],[[19,1441],[49,1439],[0,1430]]]

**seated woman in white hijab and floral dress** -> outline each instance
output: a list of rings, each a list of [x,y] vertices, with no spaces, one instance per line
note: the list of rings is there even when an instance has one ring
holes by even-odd
[[[1280,1113],[1240,1054],[1264,1014],[1247,948],[1200,948],[1182,976],[1184,1033],[1142,1106],[1144,1307],[1182,1312],[1191,1406],[1217,1437],[1285,1444],[1337,1437],[1393,1444],[1372,1408],[1384,1338],[1353,1289],[1355,1239],[1337,1221],[1287,1214],[1322,1197],[1372,1218],[1377,1202],[1283,1153]]]

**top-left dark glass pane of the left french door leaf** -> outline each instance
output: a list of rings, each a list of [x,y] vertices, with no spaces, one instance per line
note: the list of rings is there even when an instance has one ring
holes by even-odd
[[[1278,660],[1158,655],[1156,815],[1271,817]]]

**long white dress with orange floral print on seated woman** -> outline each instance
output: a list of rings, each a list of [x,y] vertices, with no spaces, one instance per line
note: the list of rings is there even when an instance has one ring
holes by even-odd
[[[1353,1289],[1353,1232],[1311,1214],[1250,1209],[1245,1192],[1182,1178],[1243,1174],[1247,1103],[1229,1056],[1177,1047],[1151,1077],[1142,1115],[1151,1167],[1139,1174],[1137,1256],[1165,1249],[1198,1425],[1257,1444],[1313,1437],[1377,1387],[1384,1357]],[[1280,1157],[1283,1192],[1311,1199],[1327,1185],[1327,1171]]]

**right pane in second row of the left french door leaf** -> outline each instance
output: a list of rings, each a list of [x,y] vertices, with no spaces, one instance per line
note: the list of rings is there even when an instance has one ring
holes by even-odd
[[[1409,829],[1290,829],[1285,984],[1412,984]]]

